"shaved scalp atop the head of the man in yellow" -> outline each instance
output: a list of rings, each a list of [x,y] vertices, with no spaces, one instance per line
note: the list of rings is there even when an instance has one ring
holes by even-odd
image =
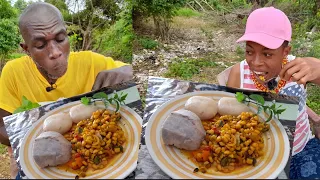
[[[25,30],[28,26],[47,24],[50,21],[59,21],[60,23],[64,23],[63,16],[59,9],[52,4],[45,2],[32,3],[20,15],[19,29],[24,37]]]

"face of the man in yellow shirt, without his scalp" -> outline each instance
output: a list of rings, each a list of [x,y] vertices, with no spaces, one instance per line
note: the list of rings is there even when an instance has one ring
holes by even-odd
[[[40,18],[41,19],[41,18]],[[30,20],[23,32],[21,47],[49,78],[57,79],[68,67],[70,44],[64,23],[59,18]]]

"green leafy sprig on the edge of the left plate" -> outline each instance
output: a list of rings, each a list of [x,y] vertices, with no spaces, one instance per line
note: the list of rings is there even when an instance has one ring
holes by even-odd
[[[110,104],[115,104],[116,105],[116,112],[119,111],[120,106],[124,105],[124,101],[126,100],[128,96],[128,93],[123,93],[121,92],[120,95],[115,93],[113,97],[108,97],[108,95],[104,92],[98,92],[90,97],[82,97],[81,98],[81,103],[84,105],[90,105],[94,103],[95,101],[102,101],[105,107],[108,107]]]

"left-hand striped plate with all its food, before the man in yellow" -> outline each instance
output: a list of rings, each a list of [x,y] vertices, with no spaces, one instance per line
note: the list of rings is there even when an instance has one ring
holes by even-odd
[[[141,124],[127,106],[68,103],[28,130],[22,170],[30,179],[125,178],[137,166]]]

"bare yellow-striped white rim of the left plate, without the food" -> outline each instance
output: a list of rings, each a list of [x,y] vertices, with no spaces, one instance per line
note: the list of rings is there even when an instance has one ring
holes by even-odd
[[[53,111],[50,111],[41,119],[39,119],[27,132],[23,139],[20,148],[20,164],[23,172],[29,179],[74,179],[76,174],[63,171],[57,167],[48,167],[41,169],[35,163],[32,156],[32,148],[35,138],[43,132],[42,126],[44,120],[53,114],[59,112],[66,112],[75,105],[80,104],[80,101],[72,102],[63,105]],[[102,103],[97,103],[98,106],[104,107]],[[109,106],[109,110],[115,110],[114,107]],[[90,179],[121,179],[127,177],[135,170],[138,160],[138,150],[141,136],[141,117],[131,108],[122,106],[120,108],[122,119],[120,126],[124,130],[127,142],[124,145],[124,152],[115,157],[115,160],[106,168],[96,171],[94,174],[85,178]]]

